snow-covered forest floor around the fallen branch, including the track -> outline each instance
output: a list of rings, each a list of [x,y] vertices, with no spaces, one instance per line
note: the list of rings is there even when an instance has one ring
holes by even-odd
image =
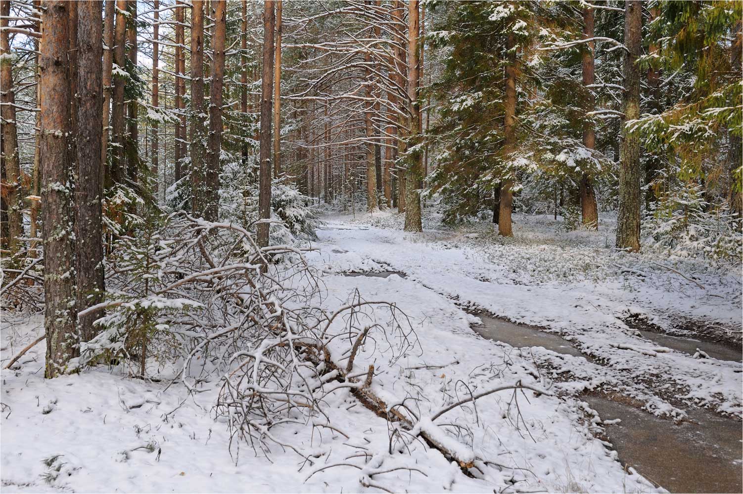
[[[311,459],[276,444],[256,454],[250,444],[230,444],[227,425],[215,420],[219,383],[203,383],[201,392],[189,396],[178,385],[166,389],[164,380],[126,378],[106,368],[45,381],[39,345],[16,369],[2,371],[0,490],[337,493],[383,487],[502,493],[700,487],[669,486],[663,471],[645,471],[642,461],[623,458],[623,451],[635,453],[620,448],[622,438],[614,441],[612,431],[620,426],[611,419],[630,416],[606,403],[643,409],[638,424],[657,421],[647,427],[722,421],[722,429],[733,431],[732,449],[707,443],[721,457],[718,476],[725,468],[739,472],[739,268],[616,253],[610,219],[602,219],[598,232],[565,232],[550,217],[515,220],[516,236],[502,239],[488,223],[450,229],[430,216],[424,234],[408,234],[398,214],[335,214],[325,218],[317,250],[308,253],[322,271],[322,306],[343,306],[357,291],[366,300],[397,303],[410,318],[418,337],[412,351],[389,355],[390,342],[377,338],[357,358],[362,367],[375,364],[371,389],[387,403],[410,398],[426,417],[501,384],[522,381],[548,391],[499,392],[438,420],[451,424],[452,441],[492,462],[481,475],[464,475],[421,442],[390,453],[396,441],[390,425],[344,390],[331,408],[335,429],[317,421],[272,429],[279,441]],[[18,324],[10,324],[10,314],[3,318],[4,365],[43,328],[39,317]],[[533,343],[518,344],[518,329],[529,332]],[[678,350],[671,347],[675,343]],[[704,355],[693,346],[710,358],[699,358]],[[661,438],[661,448],[667,442]],[[684,464],[684,458],[666,457]],[[696,464],[709,457],[696,458]],[[644,476],[631,464],[640,465]],[[406,470],[395,470],[400,468]],[[735,487],[740,481],[732,482]],[[718,490],[725,488],[730,484]]]

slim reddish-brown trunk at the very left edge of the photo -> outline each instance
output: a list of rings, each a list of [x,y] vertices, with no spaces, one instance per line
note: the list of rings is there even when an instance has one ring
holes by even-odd
[[[10,16],[10,1],[3,0],[0,4],[3,16],[1,26],[7,27],[7,16]],[[16,254],[21,243],[18,237],[23,236],[23,203],[21,199],[21,166],[18,155],[18,127],[16,125],[16,90],[13,87],[13,62],[10,55],[10,42],[7,30],[0,33],[0,86],[2,87],[2,159],[5,176],[3,177],[3,199],[6,203],[3,209],[7,211],[7,231],[4,239],[10,255]]]

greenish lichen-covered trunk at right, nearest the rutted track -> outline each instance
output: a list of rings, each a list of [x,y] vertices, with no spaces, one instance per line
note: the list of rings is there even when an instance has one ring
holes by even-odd
[[[642,2],[625,1],[624,45],[624,119],[640,117],[640,67],[637,57],[642,49]],[[619,213],[617,214],[617,248],[640,250],[640,137],[629,134],[622,125],[619,165]]]

